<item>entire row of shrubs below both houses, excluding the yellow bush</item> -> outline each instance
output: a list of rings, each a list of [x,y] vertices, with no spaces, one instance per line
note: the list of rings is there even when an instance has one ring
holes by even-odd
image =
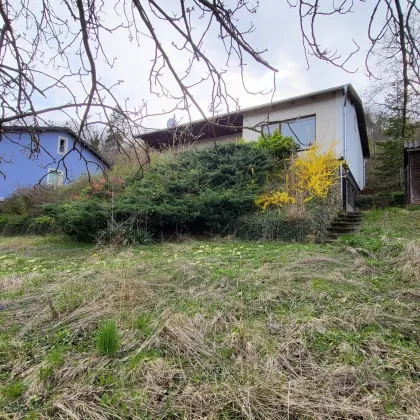
[[[279,210],[261,212],[255,204],[269,175],[281,178],[290,149],[290,141],[277,133],[254,144],[165,153],[155,157],[142,176],[137,172],[113,182],[111,174],[94,185],[83,185],[72,201],[51,198],[32,207],[31,214],[40,217],[3,215],[0,233],[57,231],[78,241],[118,245],[147,244],[178,234],[302,241],[313,230],[325,230],[329,216],[323,203],[312,206],[304,217]],[[19,202],[15,196],[11,203]]]

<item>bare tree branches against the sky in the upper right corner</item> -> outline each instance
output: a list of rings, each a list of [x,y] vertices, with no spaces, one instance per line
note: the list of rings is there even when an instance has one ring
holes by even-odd
[[[366,3],[366,0],[288,0],[291,7],[297,8],[300,17],[302,43],[309,65],[309,56],[315,56],[346,71],[357,69],[349,67],[350,59],[360,50],[353,40],[354,49],[347,55],[320,45],[319,25],[322,19],[343,16]],[[402,129],[406,135],[409,96],[420,95],[420,9],[416,0],[369,0],[370,21],[367,28],[370,48],[366,54],[365,67],[372,79],[383,79],[388,70],[397,69],[402,82]]]

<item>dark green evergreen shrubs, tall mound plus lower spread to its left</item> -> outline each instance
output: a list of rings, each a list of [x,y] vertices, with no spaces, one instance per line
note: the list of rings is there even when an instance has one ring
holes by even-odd
[[[232,234],[238,218],[256,210],[255,199],[273,169],[270,153],[249,144],[161,155],[142,179],[127,178],[124,192],[112,200],[93,196],[46,204],[42,214],[83,241],[103,236],[108,227],[115,232],[127,220],[133,227],[119,229],[119,234]]]

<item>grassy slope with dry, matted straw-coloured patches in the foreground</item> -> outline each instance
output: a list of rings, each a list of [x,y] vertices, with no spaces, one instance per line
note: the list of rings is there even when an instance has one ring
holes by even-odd
[[[419,418],[417,238],[400,209],[331,245],[1,238],[0,418]]]

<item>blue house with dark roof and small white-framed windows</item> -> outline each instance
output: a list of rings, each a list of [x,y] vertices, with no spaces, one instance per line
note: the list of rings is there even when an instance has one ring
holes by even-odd
[[[34,136],[39,139],[39,150],[31,154]],[[95,150],[67,127],[9,126],[0,132],[0,171],[5,176],[0,177],[0,198],[16,188],[39,182],[63,185],[88,170],[92,174],[107,166]]]

